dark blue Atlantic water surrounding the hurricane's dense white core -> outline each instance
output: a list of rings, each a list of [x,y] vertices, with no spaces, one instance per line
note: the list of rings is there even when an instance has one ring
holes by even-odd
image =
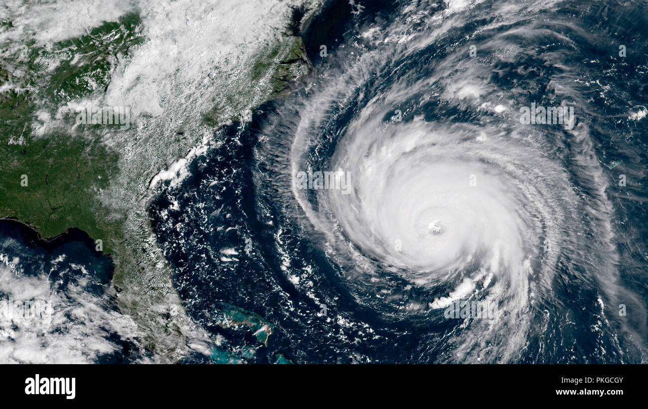
[[[580,109],[578,122],[588,129],[587,149],[582,139],[561,129],[552,129],[542,141],[550,148],[538,157],[549,158],[568,173],[562,186],[544,187],[544,199],[559,208],[562,188],[577,192],[578,199],[564,206],[573,214],[559,226],[564,237],[542,233],[562,246],[555,261],[544,265],[547,255],[531,261],[538,271],[529,275],[526,292],[533,296],[538,286],[536,293],[542,296],[529,301],[517,318],[527,324],[518,352],[512,357],[494,352],[485,360],[643,362],[648,339],[648,133],[646,122],[629,119],[629,113],[646,104],[648,61],[640,51],[648,39],[646,10],[639,3],[568,2],[502,19],[503,4],[484,2],[448,16],[452,5],[439,2],[419,2],[405,12],[399,2],[360,1],[354,8],[343,1],[327,3],[303,35],[316,71],[304,80],[306,89],[259,107],[249,123],[218,130],[218,147],[194,160],[189,176],[179,186],[163,189],[151,206],[154,231],[176,269],[174,283],[189,315],[224,337],[227,348],[254,349],[249,362],[274,362],[279,353],[293,362],[470,362],[456,354],[456,338],[468,331],[461,323],[444,320],[442,311],[402,312],[406,305],[423,305],[448,294],[457,281],[441,282],[430,291],[411,285],[402,274],[391,274],[371,255],[384,282],[373,286],[350,277],[353,268],[343,267],[348,260],[336,259],[325,235],[299,216],[301,207],[291,200],[286,169],[295,149],[291,142],[308,116],[308,102],[323,94],[334,78],[360,76],[354,64],[364,64],[362,59],[371,53],[393,52],[393,57],[376,58],[380,63],[366,69],[363,74],[370,75],[344,97],[327,96],[327,105],[321,107],[324,120],[314,133],[319,140],[305,154],[314,168],[330,164],[353,120],[373,98],[392,92],[398,83],[402,96],[384,121],[400,109],[405,123],[422,118],[429,124],[506,129],[472,104],[443,98],[446,82],[424,89],[415,85],[450,76],[457,49],[464,47],[467,54],[474,44],[481,56],[476,62],[480,82],[487,83],[489,93],[516,98],[518,106],[557,105],[559,97],[565,98]],[[415,16],[436,15],[453,19],[455,25],[423,47],[410,49],[407,40],[395,48],[367,41],[364,34],[372,28],[390,30],[403,21],[402,13],[412,17],[401,34],[412,38],[417,32],[435,35],[430,21]],[[619,44],[627,45],[632,56],[620,58]],[[328,56],[320,56],[321,45],[327,45]],[[556,86],[565,77],[570,89]],[[604,185],[592,176],[590,164],[600,170]],[[537,168],[542,173],[542,166]],[[632,183],[618,186],[619,175]],[[317,209],[322,198],[315,192],[305,195]],[[610,241],[603,238],[607,221],[613,232]],[[343,237],[349,234],[343,232]],[[539,272],[541,267],[551,272]],[[618,291],[612,296],[606,287]],[[389,291],[388,302],[376,300],[382,290]],[[326,316],[318,314],[321,304],[327,305]],[[620,304],[631,312],[618,315]],[[218,325],[216,317],[227,305],[251,311],[274,326],[267,347],[247,329]],[[505,325],[515,326],[511,322]],[[505,326],[501,330],[507,331]],[[484,336],[481,348],[500,343],[505,349],[507,342],[501,334]]]

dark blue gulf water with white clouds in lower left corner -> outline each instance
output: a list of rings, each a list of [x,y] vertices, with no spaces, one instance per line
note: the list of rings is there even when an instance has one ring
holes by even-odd
[[[115,319],[113,262],[85,232],[72,228],[44,241],[31,228],[2,220],[0,254],[0,300],[51,307],[38,318],[18,311],[3,317],[3,362],[119,364],[143,357],[137,339]]]

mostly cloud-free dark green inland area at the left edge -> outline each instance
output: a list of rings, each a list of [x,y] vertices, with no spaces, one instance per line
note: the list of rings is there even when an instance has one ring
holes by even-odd
[[[15,88],[0,93],[0,217],[22,221],[43,238],[78,227],[113,252],[124,219],[111,216],[100,192],[119,171],[118,153],[102,143],[97,125],[73,131],[74,115],[43,135],[35,135],[34,123],[39,114],[55,116],[67,102],[105,90],[117,58],[143,41],[139,23],[137,14],[126,14],[51,48],[1,45],[0,86]],[[3,22],[3,29],[12,27]]]

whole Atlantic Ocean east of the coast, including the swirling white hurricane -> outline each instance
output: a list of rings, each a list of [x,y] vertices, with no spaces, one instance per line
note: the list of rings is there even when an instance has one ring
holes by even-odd
[[[313,73],[218,129],[150,207],[213,336],[192,359],[645,362],[637,16],[327,3],[303,33]]]

